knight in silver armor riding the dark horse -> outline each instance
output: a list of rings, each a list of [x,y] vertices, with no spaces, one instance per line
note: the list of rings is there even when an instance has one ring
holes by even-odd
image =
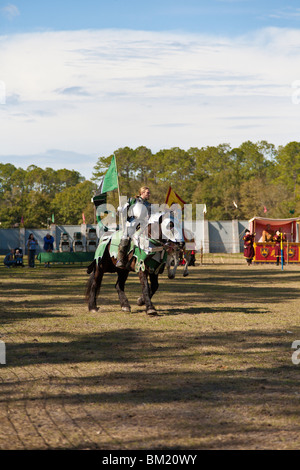
[[[143,228],[148,223],[148,219],[151,215],[151,204],[148,201],[149,198],[150,189],[147,186],[142,186],[139,190],[138,196],[129,198],[127,203],[118,209],[121,213],[127,211],[127,221],[119,244],[118,259],[116,263],[117,268],[126,267],[131,238],[137,229]]]

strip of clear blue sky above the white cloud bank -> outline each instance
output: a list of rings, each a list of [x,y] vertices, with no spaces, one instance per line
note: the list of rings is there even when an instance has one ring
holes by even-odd
[[[270,26],[299,27],[300,19],[296,0],[2,0],[1,4],[6,8],[1,20],[5,34],[121,28],[237,35]]]

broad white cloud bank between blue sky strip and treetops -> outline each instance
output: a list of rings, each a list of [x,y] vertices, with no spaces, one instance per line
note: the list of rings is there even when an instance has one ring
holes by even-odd
[[[127,145],[297,140],[299,43],[299,30],[274,28],[235,39],[114,30],[0,37],[1,154],[55,147],[95,155],[92,171],[97,156]]]

